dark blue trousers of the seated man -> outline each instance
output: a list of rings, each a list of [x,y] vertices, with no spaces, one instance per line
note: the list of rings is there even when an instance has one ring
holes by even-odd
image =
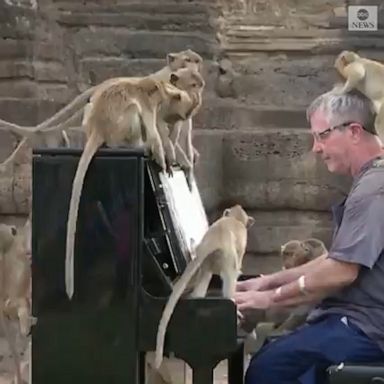
[[[323,384],[332,364],[384,361],[384,352],[342,316],[330,315],[269,342],[252,357],[245,384]]]

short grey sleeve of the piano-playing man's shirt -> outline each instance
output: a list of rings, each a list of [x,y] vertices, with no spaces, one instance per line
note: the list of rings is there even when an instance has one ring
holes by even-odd
[[[360,196],[346,203],[329,257],[372,268],[384,249],[384,195]]]

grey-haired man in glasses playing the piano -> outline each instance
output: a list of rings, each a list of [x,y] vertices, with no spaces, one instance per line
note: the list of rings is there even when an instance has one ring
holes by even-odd
[[[328,92],[312,102],[307,119],[312,151],[353,183],[332,209],[328,254],[238,283],[240,311],[318,304],[305,325],[261,348],[246,384],[318,384],[332,364],[384,361],[384,151],[370,101],[357,92]]]

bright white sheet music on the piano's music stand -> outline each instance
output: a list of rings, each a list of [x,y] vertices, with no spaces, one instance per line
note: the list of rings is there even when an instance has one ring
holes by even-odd
[[[160,181],[183,252],[191,255],[191,239],[196,246],[209,226],[196,182],[193,181],[191,192],[181,170],[174,170],[173,177],[160,173]]]

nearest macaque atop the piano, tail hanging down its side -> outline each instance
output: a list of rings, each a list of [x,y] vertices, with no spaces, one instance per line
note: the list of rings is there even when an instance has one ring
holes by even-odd
[[[69,298],[74,290],[73,258],[78,206],[88,166],[102,144],[143,144],[163,171],[164,150],[156,127],[157,111],[167,123],[187,119],[195,108],[194,99],[173,85],[147,78],[123,79],[96,91],[85,127],[87,141],[72,186],[67,222],[65,285]]]

